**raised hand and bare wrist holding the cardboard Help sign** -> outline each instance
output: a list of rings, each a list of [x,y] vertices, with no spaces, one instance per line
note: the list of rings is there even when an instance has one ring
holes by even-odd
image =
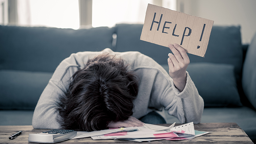
[[[169,75],[172,77],[176,88],[181,92],[184,90],[187,81],[186,69],[190,62],[189,57],[185,49],[177,43],[170,44],[169,48],[174,54],[168,54]]]

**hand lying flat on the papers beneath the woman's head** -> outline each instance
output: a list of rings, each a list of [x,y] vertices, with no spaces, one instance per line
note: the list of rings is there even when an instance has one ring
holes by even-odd
[[[122,128],[122,127],[135,127],[135,126],[143,126],[143,122],[138,120],[135,117],[129,117],[127,120],[125,121],[111,121],[108,124],[109,128]]]

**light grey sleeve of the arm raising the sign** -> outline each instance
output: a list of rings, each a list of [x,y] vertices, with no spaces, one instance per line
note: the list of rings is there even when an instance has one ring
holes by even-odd
[[[198,124],[203,114],[204,101],[188,72],[186,73],[187,82],[184,90],[180,92],[172,80],[161,97],[161,103],[168,113],[177,117],[181,123],[194,122]]]

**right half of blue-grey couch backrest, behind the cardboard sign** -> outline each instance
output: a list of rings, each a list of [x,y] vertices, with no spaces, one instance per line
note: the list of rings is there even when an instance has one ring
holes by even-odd
[[[161,65],[167,64],[171,50],[164,46],[140,40],[143,24],[116,25],[116,51],[139,51],[153,58]],[[191,63],[213,62],[231,64],[235,67],[237,78],[242,68],[242,44],[240,26],[213,26],[205,57],[188,54]]]

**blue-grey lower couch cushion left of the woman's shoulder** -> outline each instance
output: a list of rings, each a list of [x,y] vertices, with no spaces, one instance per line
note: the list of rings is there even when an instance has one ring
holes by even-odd
[[[52,74],[0,70],[0,109],[34,110]]]

